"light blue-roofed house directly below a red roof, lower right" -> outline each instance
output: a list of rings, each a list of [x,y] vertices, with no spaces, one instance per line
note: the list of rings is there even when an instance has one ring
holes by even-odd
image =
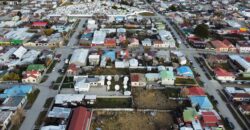
[[[189,99],[193,107],[199,106],[200,109],[205,110],[213,109],[213,105],[207,96],[190,96]]]

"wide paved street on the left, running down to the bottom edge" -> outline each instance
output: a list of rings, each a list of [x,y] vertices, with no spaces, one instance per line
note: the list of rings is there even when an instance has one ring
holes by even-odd
[[[39,85],[36,85],[35,87],[40,90],[40,93],[32,105],[32,107],[26,111],[26,118],[24,122],[22,123],[22,126],[20,130],[32,130],[35,127],[35,121],[37,120],[37,117],[39,116],[39,113],[43,111],[43,105],[47,98],[49,97],[55,97],[58,93],[57,90],[50,89],[49,86],[51,86],[52,81],[55,81],[61,74],[58,73],[58,70],[61,69],[64,66],[64,59],[66,59],[69,54],[72,53],[73,49],[69,48],[77,44],[78,39],[77,36],[79,32],[82,30],[82,26],[85,20],[81,19],[80,23],[74,32],[73,36],[70,38],[68,47],[61,47],[56,49],[56,54],[62,54],[61,61],[56,64],[54,67],[54,71],[52,71],[50,74],[48,74],[48,79]]]

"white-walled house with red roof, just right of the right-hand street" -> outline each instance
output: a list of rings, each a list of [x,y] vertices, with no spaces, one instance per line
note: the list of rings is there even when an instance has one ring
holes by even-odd
[[[214,74],[216,79],[221,82],[234,81],[235,75],[232,72],[229,72],[223,68],[217,67],[214,69]]]

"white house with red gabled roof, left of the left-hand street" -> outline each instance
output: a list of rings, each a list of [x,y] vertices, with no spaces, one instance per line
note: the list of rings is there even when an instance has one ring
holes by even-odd
[[[23,83],[39,83],[41,79],[41,72],[36,70],[26,71],[23,74],[22,82]]]

